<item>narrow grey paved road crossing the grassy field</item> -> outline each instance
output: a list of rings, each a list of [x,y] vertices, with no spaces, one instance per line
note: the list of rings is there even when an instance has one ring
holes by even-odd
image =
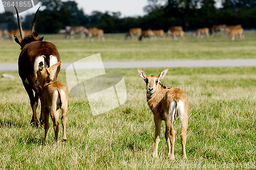
[[[72,63],[61,63],[66,69]],[[100,68],[100,63],[76,63],[76,69]],[[237,60],[184,60],[184,61],[135,61],[135,62],[103,62],[105,69],[110,68],[156,68],[156,67],[233,67],[256,66],[256,59]],[[0,71],[17,71],[17,63],[0,64]]]

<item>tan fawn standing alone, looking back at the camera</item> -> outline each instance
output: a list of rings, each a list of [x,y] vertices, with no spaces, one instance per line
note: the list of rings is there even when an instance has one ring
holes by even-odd
[[[143,70],[137,69],[146,83],[147,104],[154,114],[155,149],[153,157],[158,157],[157,149],[160,141],[161,120],[165,122],[165,139],[167,141],[168,157],[174,159],[175,130],[173,121],[179,115],[181,121],[181,144],[183,158],[186,158],[186,130],[188,123],[188,102],[186,94],[179,88],[166,88],[160,81],[169,68],[163,70],[158,77],[146,76]]]

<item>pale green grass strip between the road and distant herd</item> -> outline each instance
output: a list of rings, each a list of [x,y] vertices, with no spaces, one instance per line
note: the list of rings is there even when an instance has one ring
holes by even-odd
[[[44,35],[41,35],[44,36]],[[100,53],[103,61],[156,61],[156,60],[197,60],[197,59],[248,59],[255,58],[256,36],[245,33],[245,40],[228,40],[217,34],[209,39],[198,39],[191,34],[185,40],[170,37],[157,40],[124,40],[124,34],[106,34],[105,42],[88,42],[86,39],[65,39],[63,35],[45,35],[46,41],[53,42],[60,53],[62,62],[74,62],[81,58]],[[16,63],[20,53],[19,45],[4,39],[0,41],[0,61]]]

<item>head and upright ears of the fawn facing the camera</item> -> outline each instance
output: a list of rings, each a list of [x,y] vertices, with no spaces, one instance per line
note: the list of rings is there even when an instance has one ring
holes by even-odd
[[[140,76],[143,78],[143,80],[146,83],[147,93],[153,94],[154,92],[157,91],[160,81],[164,78],[164,76],[166,75],[169,68],[166,68],[165,70],[163,70],[158,77],[153,76],[153,75],[147,76],[142,69],[138,68],[137,70],[138,70]]]

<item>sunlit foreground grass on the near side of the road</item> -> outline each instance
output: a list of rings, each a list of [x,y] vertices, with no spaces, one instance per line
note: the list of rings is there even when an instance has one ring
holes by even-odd
[[[163,68],[144,69],[158,75]],[[136,69],[112,69],[124,76],[127,101],[93,116],[86,99],[69,96],[67,143],[54,144],[44,130],[30,127],[31,108],[17,72],[0,79],[0,169],[146,169],[154,165],[245,166],[255,162],[256,68],[173,68],[162,83],[182,87],[189,101],[187,160],[182,160],[180,120],[175,161],[167,158],[162,124],[159,158],[154,148],[153,114],[145,100],[144,81]],[[65,72],[58,79],[66,83]],[[39,112],[39,111],[38,111]],[[38,113],[39,114],[39,113]],[[60,128],[61,129],[61,128]],[[61,140],[62,130],[59,133]],[[162,165],[162,167],[163,167]]]

